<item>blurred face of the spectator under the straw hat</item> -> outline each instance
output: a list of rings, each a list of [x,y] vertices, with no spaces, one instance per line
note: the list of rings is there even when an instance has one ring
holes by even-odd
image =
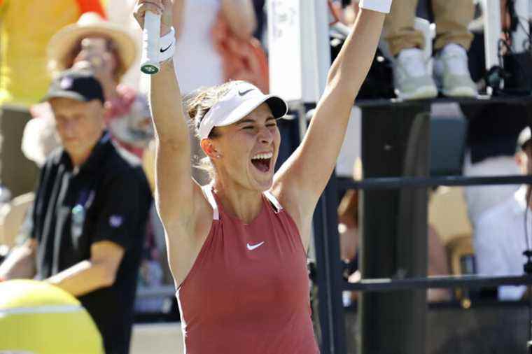
[[[113,78],[118,60],[111,46],[107,38],[83,38],[80,43],[80,51],[74,57],[73,67],[90,69],[94,71],[94,76],[100,80]]]

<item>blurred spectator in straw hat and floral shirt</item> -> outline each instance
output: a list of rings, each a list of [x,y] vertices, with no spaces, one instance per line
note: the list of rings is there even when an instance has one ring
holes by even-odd
[[[132,87],[120,84],[136,56],[137,45],[130,34],[97,13],[83,14],[48,43],[52,76],[69,68],[92,71],[104,88],[105,120],[113,140],[140,156],[153,138],[148,103]],[[34,106],[31,113],[34,118],[52,114],[47,104]],[[27,134],[31,132],[27,129]]]

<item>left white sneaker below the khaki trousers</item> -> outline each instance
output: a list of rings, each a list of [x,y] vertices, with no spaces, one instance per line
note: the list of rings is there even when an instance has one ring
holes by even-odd
[[[400,51],[393,65],[393,84],[395,94],[400,99],[430,99],[437,96],[423,50],[418,48]]]

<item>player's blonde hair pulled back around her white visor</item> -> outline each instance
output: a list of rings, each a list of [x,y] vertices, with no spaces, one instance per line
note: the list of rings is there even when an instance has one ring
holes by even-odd
[[[185,111],[188,114],[189,127],[196,137],[197,141],[200,141],[200,124],[211,110],[211,108],[225,95],[227,94],[232,87],[235,87],[238,83],[243,81],[235,80],[229,81],[228,83],[223,83],[222,85],[211,86],[211,87],[200,87],[199,89],[187,94],[186,97],[183,97],[183,105]],[[209,134],[209,139],[216,139],[220,134],[218,129],[214,127]],[[201,148],[200,148],[201,151]],[[193,167],[207,171],[209,178],[214,180],[216,177],[216,170],[214,169],[214,164],[212,163],[210,157],[200,157],[195,155],[193,158]]]

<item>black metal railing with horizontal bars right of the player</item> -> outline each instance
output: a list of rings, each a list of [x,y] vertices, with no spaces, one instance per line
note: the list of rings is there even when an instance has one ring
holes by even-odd
[[[527,108],[528,122],[532,123],[532,97],[479,97],[479,99],[438,99],[440,102],[457,102],[466,105],[484,105],[491,103],[505,103],[523,105]],[[402,109],[405,114],[410,107],[419,113],[420,107],[429,107],[435,102],[430,101],[358,101],[357,106],[363,108],[363,127],[365,111],[373,114],[379,110],[389,109],[391,114],[395,108]],[[381,119],[383,115],[377,117]],[[373,118],[373,117],[372,117]],[[372,119],[371,118],[371,119]],[[393,119],[400,119],[395,117]],[[424,119],[424,118],[423,118]],[[366,125],[365,125],[366,124]],[[375,129],[375,123],[372,123]],[[378,128],[377,128],[378,129]],[[363,132],[367,139],[379,134],[378,130]],[[399,133],[398,133],[399,134]],[[423,133],[426,134],[426,133]],[[364,148],[364,143],[363,143]],[[384,161],[381,163],[385,163]],[[363,166],[365,162],[363,161]],[[375,176],[375,175],[374,175]],[[379,174],[377,174],[379,176]],[[339,238],[337,233],[337,191],[352,188],[356,190],[408,190],[437,186],[481,186],[481,185],[520,185],[532,184],[532,176],[399,176],[365,178],[363,180],[338,180],[333,174],[328,186],[322,194],[314,215],[314,244],[316,247],[317,283],[319,289],[319,316],[321,327],[321,353],[346,353],[345,323],[342,304],[342,291],[352,290],[361,292],[390,292],[402,290],[421,290],[429,288],[482,288],[499,285],[532,285],[532,276],[437,276],[412,278],[363,278],[358,283],[347,283],[342,278],[342,264],[339,262]],[[371,210],[369,212],[375,212]],[[364,332],[362,332],[362,335]],[[399,353],[399,352],[397,352]],[[365,354],[365,352],[364,352]]]

